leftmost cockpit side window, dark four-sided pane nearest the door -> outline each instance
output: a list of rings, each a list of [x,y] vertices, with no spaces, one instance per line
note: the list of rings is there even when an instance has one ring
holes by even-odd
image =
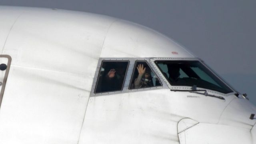
[[[102,61],[95,93],[122,90],[128,61]]]

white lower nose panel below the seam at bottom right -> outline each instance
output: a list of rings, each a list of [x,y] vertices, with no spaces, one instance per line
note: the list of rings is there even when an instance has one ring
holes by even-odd
[[[180,144],[251,144],[250,130],[199,123],[179,135]]]

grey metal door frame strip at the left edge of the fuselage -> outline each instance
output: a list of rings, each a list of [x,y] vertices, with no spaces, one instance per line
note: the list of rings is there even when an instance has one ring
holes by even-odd
[[[4,74],[4,80],[3,80],[2,88],[1,88],[1,91],[0,91],[0,108],[1,108],[1,103],[2,103],[3,96],[4,96],[4,89],[5,89],[5,85],[6,85],[6,82],[7,82],[8,73],[9,73],[9,70],[10,70],[12,58],[9,55],[0,55],[0,58],[8,58],[7,68],[6,68],[6,71],[5,71],[5,74]]]

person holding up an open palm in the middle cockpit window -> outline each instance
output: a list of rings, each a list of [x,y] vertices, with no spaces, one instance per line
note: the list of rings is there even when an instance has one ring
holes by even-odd
[[[150,68],[146,68],[143,64],[139,64],[137,70],[138,77],[134,80],[134,88],[148,88],[154,86]]]

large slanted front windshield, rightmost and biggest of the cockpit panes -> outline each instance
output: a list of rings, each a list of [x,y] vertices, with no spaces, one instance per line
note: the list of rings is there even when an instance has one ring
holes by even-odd
[[[228,94],[233,92],[197,60],[156,60],[162,74],[172,86],[194,86]]]

